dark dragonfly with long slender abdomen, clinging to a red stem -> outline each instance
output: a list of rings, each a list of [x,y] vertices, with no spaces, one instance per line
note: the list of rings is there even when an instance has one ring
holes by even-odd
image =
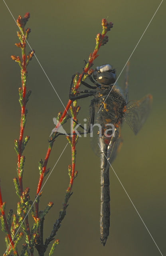
[[[95,122],[101,125],[101,136],[99,136],[98,143],[101,160],[100,239],[103,246],[106,244],[110,228],[109,167],[122,146],[121,126],[125,121],[134,134],[137,134],[146,121],[152,106],[151,94],[138,101],[128,101],[128,71],[129,63],[126,66],[123,90],[115,85],[116,72],[110,64],[98,66],[88,76],[93,85],[81,79],[81,84],[91,90],[78,90],[72,94],[73,78],[70,86],[69,98],[71,100],[93,96],[89,108],[90,117],[87,133],[91,132],[91,126]],[[108,124],[114,126],[113,132],[107,132]],[[97,133],[99,134],[99,130]]]

